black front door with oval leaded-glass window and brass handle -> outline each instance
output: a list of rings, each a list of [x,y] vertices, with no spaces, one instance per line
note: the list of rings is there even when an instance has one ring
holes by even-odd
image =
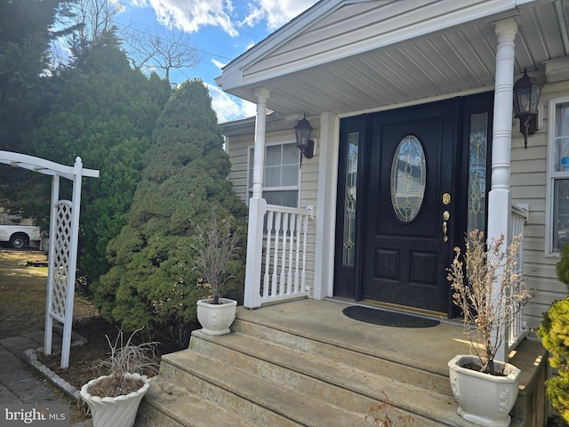
[[[361,298],[447,312],[456,101],[375,115],[369,131]]]

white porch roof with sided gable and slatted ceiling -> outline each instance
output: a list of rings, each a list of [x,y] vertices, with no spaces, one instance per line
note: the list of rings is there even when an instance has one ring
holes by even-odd
[[[516,72],[569,52],[569,0],[322,0],[230,62],[216,83],[283,117],[493,90],[494,24],[516,19]]]

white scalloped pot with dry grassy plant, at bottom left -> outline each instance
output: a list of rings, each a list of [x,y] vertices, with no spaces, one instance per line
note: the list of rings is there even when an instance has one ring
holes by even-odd
[[[81,398],[92,415],[93,427],[132,427],[140,405],[150,386],[148,374],[156,374],[155,348],[157,342],[134,344],[134,331],[124,342],[119,331],[114,343],[107,335],[110,356],[99,360],[95,369],[105,370],[106,375],[91,380],[81,387]]]

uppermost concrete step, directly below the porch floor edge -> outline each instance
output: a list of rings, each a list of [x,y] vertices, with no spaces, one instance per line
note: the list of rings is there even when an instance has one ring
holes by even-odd
[[[370,374],[386,376],[397,382],[421,385],[421,387],[448,396],[453,395],[448,379],[448,367],[437,369],[432,364],[421,364],[421,358],[405,359],[397,353],[384,351],[381,347],[371,350],[369,347],[349,345],[341,339],[334,339],[333,334],[312,334],[307,331],[286,329],[282,325],[263,325],[251,318],[237,318],[233,330],[259,338],[264,342],[275,342],[284,347],[300,350],[303,353],[342,363],[349,367],[358,367]]]

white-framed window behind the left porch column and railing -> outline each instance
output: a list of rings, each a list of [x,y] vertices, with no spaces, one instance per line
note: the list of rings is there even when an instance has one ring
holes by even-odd
[[[299,206],[299,150],[294,142],[265,147],[263,198],[269,205]],[[252,197],[253,149],[249,149],[248,189]]]

